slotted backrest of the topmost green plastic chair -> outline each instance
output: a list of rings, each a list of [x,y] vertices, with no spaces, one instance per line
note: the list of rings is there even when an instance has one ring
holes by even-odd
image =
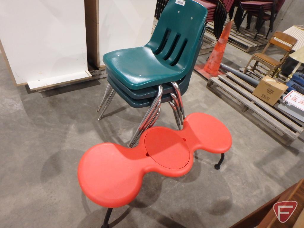
[[[193,0],[170,0],[146,45],[157,59],[189,71],[205,27],[207,9]]]

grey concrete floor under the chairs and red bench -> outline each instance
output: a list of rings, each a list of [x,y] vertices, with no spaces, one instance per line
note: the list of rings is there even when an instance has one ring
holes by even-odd
[[[228,45],[223,62],[238,68],[249,59]],[[97,143],[125,145],[147,110],[131,108],[116,95],[107,117],[98,121],[106,85],[100,79],[28,93],[25,86],[14,87],[0,56],[1,228],[101,226],[106,208],[81,192],[78,161]],[[111,227],[230,227],[303,178],[303,136],[282,146],[206,89],[195,73],[183,100],[186,114],[206,112],[230,130],[233,146],[222,168],[213,168],[219,155],[198,150],[192,170],[181,178],[145,175],[136,200],[113,210]],[[176,129],[169,105],[161,107],[156,125]]]

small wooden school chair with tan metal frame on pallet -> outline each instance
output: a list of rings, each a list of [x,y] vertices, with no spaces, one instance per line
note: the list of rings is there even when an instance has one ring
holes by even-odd
[[[243,73],[250,71],[251,73],[255,74],[254,71],[256,70],[257,64],[260,62],[269,68],[267,75],[270,76],[272,74],[272,76],[274,76],[278,71],[278,69],[281,67],[281,65],[284,63],[286,57],[288,57],[295,43],[297,43],[297,39],[295,39],[294,37],[289,36],[283,32],[278,32],[278,31],[275,32],[275,34],[271,37],[271,40],[268,42],[262,53],[255,53],[252,55]],[[283,58],[280,61],[275,60],[274,58],[265,54],[270,44],[273,44],[286,51],[286,53],[284,54]],[[251,69],[248,69],[249,64],[251,63],[252,60],[255,60],[256,62]]]

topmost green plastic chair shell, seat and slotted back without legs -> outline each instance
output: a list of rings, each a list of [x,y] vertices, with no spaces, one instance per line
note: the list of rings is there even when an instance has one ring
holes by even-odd
[[[178,81],[191,68],[206,15],[198,2],[186,0],[183,6],[170,0],[149,43],[109,52],[103,62],[130,89]]]

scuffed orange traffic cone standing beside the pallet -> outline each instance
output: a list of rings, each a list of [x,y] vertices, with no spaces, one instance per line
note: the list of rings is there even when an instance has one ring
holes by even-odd
[[[206,64],[198,64],[194,66],[194,70],[200,75],[209,79],[211,77],[216,77],[221,74],[225,74],[219,71],[219,66],[222,62],[226,44],[229,38],[232,22],[230,21],[226,24],[222,35],[219,37],[208,61]]]

